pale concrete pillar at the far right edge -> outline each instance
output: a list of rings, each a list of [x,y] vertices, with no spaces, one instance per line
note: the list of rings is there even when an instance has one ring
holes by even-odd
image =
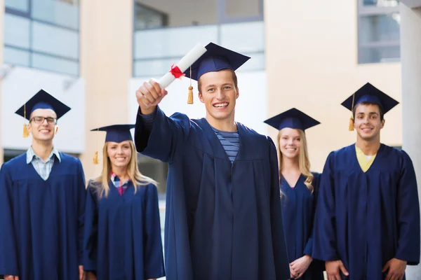
[[[400,3],[400,13],[403,149],[413,160],[421,196],[421,9]],[[421,266],[408,267],[406,274],[421,279]]]

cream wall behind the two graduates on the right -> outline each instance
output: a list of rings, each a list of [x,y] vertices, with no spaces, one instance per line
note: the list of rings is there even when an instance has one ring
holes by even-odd
[[[295,106],[322,123],[307,130],[314,171],[355,141],[340,105],[354,91],[370,82],[401,101],[399,63],[356,63],[356,20],[356,1],[265,1],[268,117]],[[385,119],[382,142],[401,146],[401,105]]]

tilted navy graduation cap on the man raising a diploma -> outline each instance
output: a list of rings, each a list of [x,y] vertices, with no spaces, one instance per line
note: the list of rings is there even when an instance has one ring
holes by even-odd
[[[199,80],[204,73],[224,69],[235,71],[250,59],[246,55],[228,50],[215,43],[208,43],[205,48],[207,51],[184,72],[185,76],[190,78],[188,104],[193,104],[192,79]]]

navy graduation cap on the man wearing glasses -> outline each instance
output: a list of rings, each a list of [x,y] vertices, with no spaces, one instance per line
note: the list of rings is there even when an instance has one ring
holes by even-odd
[[[56,99],[51,94],[48,94],[45,90],[39,90],[39,92],[36,92],[36,94],[23,104],[18,111],[15,111],[15,113],[27,120],[30,120],[29,118],[32,112],[36,109],[51,109],[57,115],[57,119],[61,118],[65,115],[65,113],[70,111],[69,106],[60,102],[60,100]],[[28,136],[29,132],[27,130],[27,125],[23,125],[23,137]]]

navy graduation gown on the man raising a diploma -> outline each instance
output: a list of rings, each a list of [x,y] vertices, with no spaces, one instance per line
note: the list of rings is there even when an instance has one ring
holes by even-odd
[[[206,119],[138,116],[139,152],[169,163],[166,279],[289,279],[276,148],[237,123],[234,163]]]

